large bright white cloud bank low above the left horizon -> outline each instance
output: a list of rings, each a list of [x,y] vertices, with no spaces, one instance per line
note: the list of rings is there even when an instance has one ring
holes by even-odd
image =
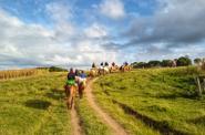
[[[3,10],[0,10],[0,69],[90,65],[100,63],[105,55],[104,61],[116,61],[115,52],[106,54],[100,45],[103,41],[95,39],[106,35],[99,23],[84,28],[84,32],[73,28],[79,31],[71,35],[59,23],[53,29],[27,24]],[[60,34],[58,27],[62,30]]]

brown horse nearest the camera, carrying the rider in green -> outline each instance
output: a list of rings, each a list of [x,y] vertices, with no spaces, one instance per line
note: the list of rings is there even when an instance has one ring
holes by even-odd
[[[72,108],[73,104],[74,104],[74,97],[75,97],[75,93],[76,93],[76,86],[75,85],[65,85],[64,86],[65,90],[65,95],[66,95],[66,106],[68,108]]]

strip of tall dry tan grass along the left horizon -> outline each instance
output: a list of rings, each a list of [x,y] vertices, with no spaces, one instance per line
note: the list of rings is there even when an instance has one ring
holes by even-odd
[[[45,70],[38,70],[38,69],[0,71],[0,80],[31,76],[31,75],[45,73],[45,72],[48,72],[48,71],[45,71]]]

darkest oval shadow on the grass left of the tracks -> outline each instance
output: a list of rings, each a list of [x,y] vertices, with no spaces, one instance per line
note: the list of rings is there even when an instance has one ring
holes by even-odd
[[[29,100],[25,103],[27,107],[38,108],[38,110],[47,110],[51,103],[42,100]]]

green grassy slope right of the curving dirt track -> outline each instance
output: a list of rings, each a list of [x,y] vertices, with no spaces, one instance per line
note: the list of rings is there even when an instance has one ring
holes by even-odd
[[[201,73],[202,74],[202,73]],[[101,76],[98,103],[131,134],[205,134],[205,96],[194,68],[136,70]]]

